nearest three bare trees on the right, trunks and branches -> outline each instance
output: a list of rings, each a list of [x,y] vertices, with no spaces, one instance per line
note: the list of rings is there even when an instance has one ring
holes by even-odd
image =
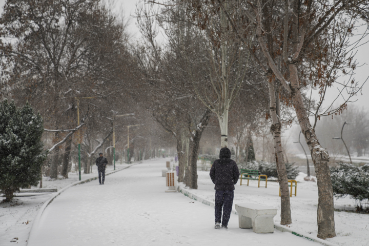
[[[148,2],[155,4],[155,1]],[[157,18],[168,32],[181,30],[180,40],[192,34],[190,40],[196,47],[196,58],[190,58],[189,51],[194,49],[185,44],[181,44],[181,52],[175,57],[185,57],[189,64],[195,65],[191,71],[186,71],[186,66],[180,69],[187,72],[186,78],[191,80],[195,96],[217,115],[221,147],[227,147],[228,113],[245,81],[249,80],[252,90],[255,90],[254,85],[264,81],[264,88],[268,88],[263,91],[269,99],[267,117],[272,121],[281,188],[281,224],[289,224],[292,220],[281,148],[280,100],[293,106],[317,173],[320,238],[336,234],[329,153],[320,145],[315,126],[320,117],[342,112],[347,101],[360,90],[354,80],[347,81],[342,85],[342,90],[348,91],[344,103],[336,109],[321,110],[326,90],[336,83],[339,71],[353,74],[356,68],[348,37],[352,35],[355,21],[366,16],[365,6],[367,1],[187,0],[172,1]],[[140,16],[149,19],[148,16],[153,15],[144,11]],[[173,20],[173,16],[180,19]],[[177,26],[173,26],[174,21]],[[147,30],[153,30],[153,21],[146,23],[151,24]],[[147,36],[154,47],[154,35]],[[154,68],[158,71],[158,65]],[[196,70],[201,70],[202,76],[194,80],[191,75]],[[253,70],[259,74],[258,78],[247,76],[248,71]],[[319,101],[314,102],[304,93],[304,88],[309,87],[319,91]],[[313,125],[309,116],[315,116]]]

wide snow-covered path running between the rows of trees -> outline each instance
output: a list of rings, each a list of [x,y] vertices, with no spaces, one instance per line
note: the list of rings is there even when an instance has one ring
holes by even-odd
[[[290,233],[215,230],[214,208],[180,193],[165,193],[165,159],[146,161],[70,188],[46,208],[28,246],[43,245],[321,245]]]

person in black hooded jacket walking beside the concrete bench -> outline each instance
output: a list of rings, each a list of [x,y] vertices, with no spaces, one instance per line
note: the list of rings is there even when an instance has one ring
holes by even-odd
[[[222,148],[219,153],[219,159],[215,160],[210,169],[210,177],[215,184],[215,229],[227,229],[228,221],[231,217],[233,204],[233,190],[235,189],[239,178],[237,164],[231,159],[231,151],[228,148]],[[222,210],[223,218],[222,220]]]

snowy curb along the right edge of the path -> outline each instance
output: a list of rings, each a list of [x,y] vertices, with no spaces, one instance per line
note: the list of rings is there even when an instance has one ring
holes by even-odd
[[[183,187],[183,184],[182,183],[179,184],[178,191],[180,193],[182,193],[183,195],[188,196],[189,198],[191,198],[191,199],[193,199],[195,201],[199,201],[199,202],[201,202],[203,204],[206,204],[208,206],[215,207],[214,202],[209,201],[207,199],[204,199],[204,198],[202,198],[200,196],[197,196],[197,195],[191,193],[188,189],[186,189],[185,187]],[[232,210],[232,213],[238,215],[237,211],[235,211],[235,210]],[[335,243],[332,243],[332,242],[329,242],[329,241],[326,241],[326,240],[323,240],[323,239],[320,239],[320,238],[317,238],[317,237],[314,237],[314,236],[311,236],[311,235],[306,235],[305,233],[293,231],[293,230],[291,230],[288,227],[283,227],[280,224],[277,224],[276,222],[274,222],[274,228],[277,229],[278,231],[281,231],[281,232],[290,232],[293,235],[302,237],[304,239],[308,239],[308,240],[313,241],[313,242],[319,242],[319,243],[321,243],[323,245],[326,245],[326,246],[338,246],[338,244],[335,244]]]

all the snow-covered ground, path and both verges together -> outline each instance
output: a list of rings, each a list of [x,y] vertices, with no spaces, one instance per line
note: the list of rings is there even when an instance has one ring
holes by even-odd
[[[169,159],[168,159],[169,160]],[[180,193],[165,193],[166,159],[145,161],[106,177],[106,185],[97,180],[69,188],[46,208],[37,227],[32,229],[29,246],[43,245],[321,245],[291,233],[275,231],[256,234],[252,229],[238,228],[238,217],[232,214],[229,229],[215,230],[214,208],[189,199]],[[120,166],[120,165],[119,165]],[[118,168],[120,168],[117,166]],[[124,166],[124,165],[121,165]],[[112,167],[110,167],[112,168]],[[191,190],[214,200],[214,185],[209,172],[199,171],[199,189]],[[44,187],[62,188],[75,180],[45,180]],[[91,174],[96,176],[96,173]],[[291,229],[316,235],[317,186],[298,177],[297,197],[291,198]],[[73,178],[72,174],[70,177]],[[83,179],[88,175],[83,175]],[[57,185],[57,183],[59,185]],[[38,208],[50,195],[17,197],[21,205],[0,207],[0,245],[26,245],[30,226]],[[235,203],[254,202],[280,208],[278,183],[268,188],[236,186]],[[15,204],[15,202],[13,203]],[[338,209],[351,209],[350,198],[335,200]],[[5,207],[5,208],[3,208]],[[280,215],[274,218],[280,220]],[[23,223],[29,221],[28,224]],[[336,212],[337,237],[328,239],[339,245],[369,245],[369,215]]]

